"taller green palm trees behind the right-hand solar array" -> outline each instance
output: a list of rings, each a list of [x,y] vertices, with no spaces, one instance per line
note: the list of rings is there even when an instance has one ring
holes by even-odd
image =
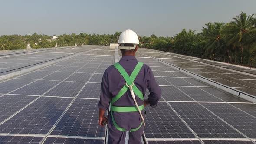
[[[256,66],[256,15],[241,13],[229,23],[209,22],[202,32],[183,29],[171,40],[171,47],[154,49],[189,56]]]

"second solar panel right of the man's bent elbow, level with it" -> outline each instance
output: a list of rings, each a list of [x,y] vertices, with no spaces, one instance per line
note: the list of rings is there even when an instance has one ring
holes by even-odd
[[[178,87],[182,92],[185,92],[191,98],[194,98],[196,101],[221,101],[219,98],[210,95],[207,92],[204,92],[197,87]]]

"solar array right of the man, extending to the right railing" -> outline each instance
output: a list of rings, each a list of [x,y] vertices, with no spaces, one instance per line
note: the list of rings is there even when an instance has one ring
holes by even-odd
[[[158,107],[146,108],[148,144],[253,143],[255,103],[151,58],[137,59],[151,66],[162,91]]]

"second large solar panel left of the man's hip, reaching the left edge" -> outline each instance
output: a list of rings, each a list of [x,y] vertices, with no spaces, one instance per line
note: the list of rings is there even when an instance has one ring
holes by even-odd
[[[47,134],[72,98],[41,97],[4,122],[0,133]]]

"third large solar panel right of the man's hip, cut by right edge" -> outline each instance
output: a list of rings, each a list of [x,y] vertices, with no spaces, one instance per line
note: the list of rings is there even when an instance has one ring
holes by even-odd
[[[247,137],[256,138],[256,120],[254,117],[247,115],[229,104],[203,103],[203,105]]]

